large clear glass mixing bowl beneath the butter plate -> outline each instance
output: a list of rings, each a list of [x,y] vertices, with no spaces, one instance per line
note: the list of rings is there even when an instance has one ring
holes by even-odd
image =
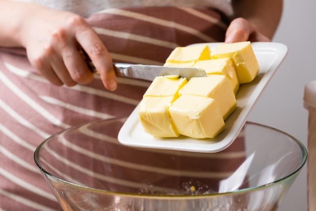
[[[218,153],[124,146],[124,120],[74,126],[37,147],[64,210],[277,210],[307,159],[292,136],[251,122]]]

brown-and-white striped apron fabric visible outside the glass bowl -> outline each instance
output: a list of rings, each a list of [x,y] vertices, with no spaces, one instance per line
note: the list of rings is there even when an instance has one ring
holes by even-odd
[[[114,61],[161,65],[177,46],[223,41],[222,18],[208,9],[152,7],[104,10],[87,20]],[[56,87],[25,55],[0,53],[0,210],[61,210],[34,163],[34,150],[73,125],[127,117],[149,82],[118,82],[115,92],[104,89],[98,75],[87,86]],[[236,153],[243,159],[242,149],[229,148],[224,159]]]

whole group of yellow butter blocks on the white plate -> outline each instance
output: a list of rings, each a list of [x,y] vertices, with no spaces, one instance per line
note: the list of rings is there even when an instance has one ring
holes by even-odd
[[[259,71],[249,41],[223,44],[212,52],[208,45],[178,47],[164,66],[201,68],[207,76],[189,81],[159,76],[152,81],[137,112],[145,132],[162,138],[215,138],[237,107],[240,84],[252,81]]]

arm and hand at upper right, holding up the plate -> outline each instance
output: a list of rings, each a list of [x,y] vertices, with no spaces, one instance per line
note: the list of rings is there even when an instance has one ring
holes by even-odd
[[[226,32],[226,43],[271,41],[279,25],[282,0],[232,0],[234,17]]]

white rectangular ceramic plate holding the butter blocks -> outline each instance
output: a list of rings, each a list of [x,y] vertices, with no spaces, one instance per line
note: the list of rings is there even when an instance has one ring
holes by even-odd
[[[208,45],[212,50],[220,44],[209,43]],[[252,48],[259,62],[259,73],[253,81],[240,86],[236,94],[237,108],[225,120],[225,129],[217,137],[214,139],[193,139],[185,136],[178,138],[152,137],[144,132],[138,120],[137,106],[120,130],[119,141],[129,146],[191,152],[214,153],[226,149],[238,136],[253,106],[282,63],[288,50],[285,45],[280,43],[257,42],[252,43]]]

